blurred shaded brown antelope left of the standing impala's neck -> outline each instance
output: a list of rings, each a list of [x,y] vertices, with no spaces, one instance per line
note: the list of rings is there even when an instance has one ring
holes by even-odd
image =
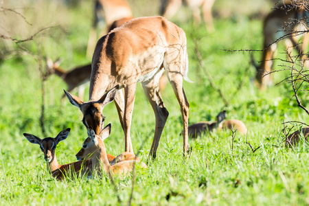
[[[47,71],[50,73],[56,73],[57,76],[62,78],[67,84],[67,91],[72,91],[78,88],[78,96],[84,98],[84,84],[90,81],[91,76],[91,64],[84,65],[82,67],[76,67],[70,71],[65,71],[59,67],[59,61],[53,62],[51,59],[47,59]],[[62,95],[62,100],[65,98],[65,94]]]

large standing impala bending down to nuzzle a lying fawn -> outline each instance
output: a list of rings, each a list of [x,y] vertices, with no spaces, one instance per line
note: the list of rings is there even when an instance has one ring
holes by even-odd
[[[187,78],[187,39],[180,27],[162,16],[128,21],[100,38],[95,47],[92,65],[89,102],[83,102],[65,91],[71,104],[82,111],[83,123],[87,128],[93,128],[96,135],[100,133],[104,121],[104,105],[115,98],[124,129],[125,152],[133,152],[130,127],[136,84],[141,82],[155,112],[155,137],[150,149],[150,155],[155,157],[168,118],[168,110],[159,91],[159,78],[165,69],[181,107],[183,151],[187,152],[189,102],[183,91],[183,78],[188,82],[190,80]],[[124,95],[122,90],[117,92],[119,88],[124,88]],[[106,91],[108,92],[104,94]]]

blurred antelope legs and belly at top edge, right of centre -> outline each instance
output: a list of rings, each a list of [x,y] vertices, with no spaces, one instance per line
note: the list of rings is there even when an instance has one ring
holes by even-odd
[[[171,19],[182,4],[187,5],[193,14],[194,21],[201,22],[200,7],[203,10],[203,17],[208,32],[214,32],[211,8],[215,0],[161,0],[160,15]]]

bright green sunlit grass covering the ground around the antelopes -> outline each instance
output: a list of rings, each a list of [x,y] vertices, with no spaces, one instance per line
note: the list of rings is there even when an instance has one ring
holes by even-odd
[[[146,5],[146,1],[143,2],[142,5]],[[130,3],[135,5],[136,16],[157,14],[154,10],[146,13],[149,8],[138,10],[136,1]],[[37,14],[41,18],[33,18],[32,12],[38,10],[38,5],[25,12],[27,19],[34,23],[32,27],[25,26],[29,29],[26,33],[33,34],[36,28],[58,23],[64,30],[49,30],[35,38],[38,44],[26,43],[25,46],[34,53],[41,49],[44,56],[53,59],[61,56],[65,59],[62,66],[67,69],[90,62],[85,57],[91,25],[86,20],[91,16],[89,3],[82,2],[77,8],[45,4],[42,5],[45,10]],[[157,159],[148,164],[147,170],[137,170],[133,205],[308,205],[308,144],[301,142],[295,149],[288,150],[284,148],[282,133],[282,122],[308,122],[308,115],[297,107],[294,99],[290,100],[293,93],[285,83],[266,91],[254,87],[251,83],[255,76],[254,68],[251,67],[249,75],[244,76],[250,60],[248,53],[222,50],[261,49],[262,21],[250,20],[240,14],[230,19],[218,18],[214,22],[214,34],[208,34],[204,25],[196,26],[191,21],[175,22],[187,34],[189,77],[195,82],[184,82],[183,86],[190,101],[190,124],[214,120],[224,108],[220,96],[211,88],[203,68],[198,65],[192,39],[196,38],[215,84],[228,100],[231,99],[229,106],[225,107],[227,118],[242,120],[249,132],[247,136],[236,133],[233,143],[229,131],[206,135],[197,141],[190,140],[192,155],[183,159],[182,137],[179,135],[182,131],[181,113],[168,85],[163,92],[163,100],[170,116],[161,137]],[[19,24],[23,24],[21,19]],[[16,26],[16,35],[18,30]],[[20,34],[16,37],[25,36]],[[1,48],[16,49],[16,45],[8,43]],[[254,56],[260,59],[261,54],[255,52]],[[284,58],[280,52],[278,56]],[[278,61],[275,63],[279,64]],[[37,145],[30,144],[23,137],[23,133],[43,137],[39,124],[41,80],[33,58],[28,54],[6,58],[1,62],[0,72],[0,204],[117,204],[115,187],[106,176],[95,176],[90,180],[53,179],[46,170],[43,153]],[[275,73],[275,82],[285,75]],[[240,81],[244,84],[232,97]],[[60,78],[50,77],[46,87],[47,134],[55,137],[60,130],[70,127],[69,137],[58,145],[56,153],[60,163],[76,161],[75,155],[87,137],[87,130],[81,122],[82,114],[67,100],[61,104],[62,89],[66,85]],[[87,99],[87,93],[84,99]],[[306,93],[301,98],[306,104]],[[111,137],[105,141],[106,150],[112,155],[119,155],[124,151],[124,135],[113,103],[104,108],[104,115],[105,122],[112,124]],[[138,86],[131,129],[135,152],[154,128],[155,116],[143,89]],[[253,148],[260,148],[253,152],[247,142]],[[144,161],[151,144],[152,135],[140,151]],[[116,178],[115,183],[121,204],[126,205],[130,198],[132,175]]]

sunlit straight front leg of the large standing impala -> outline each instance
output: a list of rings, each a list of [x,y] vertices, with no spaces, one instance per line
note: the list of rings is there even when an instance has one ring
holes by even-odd
[[[132,113],[134,108],[136,83],[124,87],[124,151],[133,152],[132,141],[130,137],[130,128],[132,122]]]

